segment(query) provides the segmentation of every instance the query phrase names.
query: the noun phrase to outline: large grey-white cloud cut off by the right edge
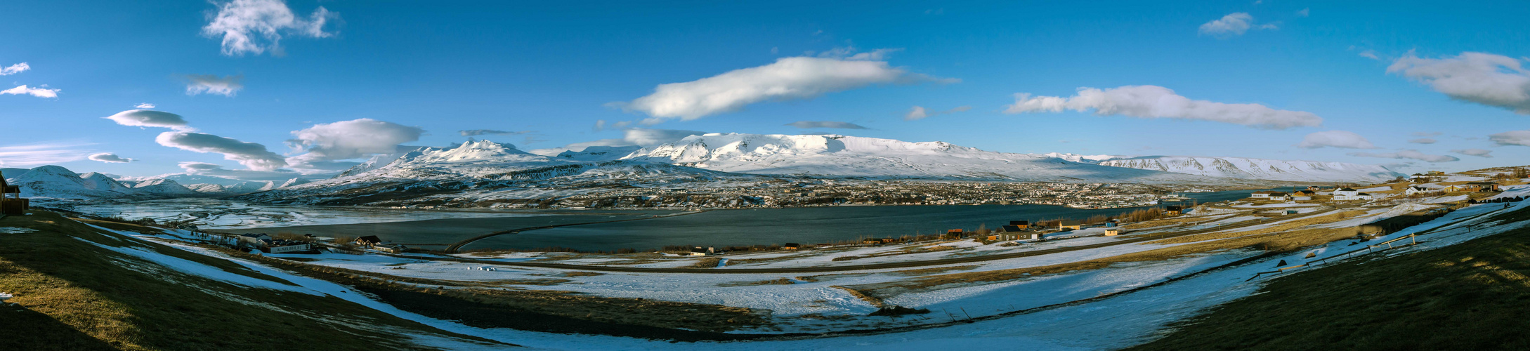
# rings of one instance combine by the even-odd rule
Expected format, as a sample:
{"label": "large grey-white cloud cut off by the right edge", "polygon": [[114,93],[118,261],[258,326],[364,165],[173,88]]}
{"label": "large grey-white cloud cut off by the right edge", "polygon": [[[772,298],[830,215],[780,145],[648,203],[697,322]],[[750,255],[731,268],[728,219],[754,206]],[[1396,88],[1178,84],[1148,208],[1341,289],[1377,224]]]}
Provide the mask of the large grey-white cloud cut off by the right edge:
{"label": "large grey-white cloud cut off by the right edge", "polygon": [[1519,61],[1481,52],[1463,52],[1454,58],[1418,58],[1409,52],[1386,72],[1427,84],[1452,99],[1530,114],[1530,70]]}

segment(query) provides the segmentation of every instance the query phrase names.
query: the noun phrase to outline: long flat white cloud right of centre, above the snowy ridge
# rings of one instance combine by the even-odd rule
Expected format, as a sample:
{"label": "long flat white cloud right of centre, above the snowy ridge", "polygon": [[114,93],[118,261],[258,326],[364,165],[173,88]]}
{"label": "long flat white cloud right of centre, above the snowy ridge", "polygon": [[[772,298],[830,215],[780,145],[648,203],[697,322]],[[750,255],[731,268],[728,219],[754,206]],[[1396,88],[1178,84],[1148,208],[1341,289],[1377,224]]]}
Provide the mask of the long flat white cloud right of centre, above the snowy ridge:
{"label": "long flat white cloud right of centre, above the snowy ridge", "polygon": [[1158,85],[1125,85],[1105,90],[1082,87],[1079,95],[1071,98],[1033,98],[1030,93],[1017,93],[1014,105],[1010,105],[1004,113],[1057,113],[1063,110],[1094,110],[1095,116],[1196,119],[1265,130],[1317,127],[1323,122],[1322,118],[1308,111],[1274,110],[1261,104],[1192,101]]}

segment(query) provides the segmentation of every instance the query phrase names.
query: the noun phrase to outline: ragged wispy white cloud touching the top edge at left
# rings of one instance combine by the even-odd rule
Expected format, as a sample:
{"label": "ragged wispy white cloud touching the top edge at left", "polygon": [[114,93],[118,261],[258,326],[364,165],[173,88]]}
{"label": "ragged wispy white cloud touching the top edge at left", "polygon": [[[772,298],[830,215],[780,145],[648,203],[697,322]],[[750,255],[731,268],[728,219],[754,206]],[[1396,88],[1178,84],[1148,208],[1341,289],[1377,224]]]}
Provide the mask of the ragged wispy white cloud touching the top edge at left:
{"label": "ragged wispy white cloud touching the top edge at left", "polygon": [[217,14],[208,17],[202,35],[222,35],[223,55],[230,56],[260,55],[266,50],[283,55],[283,34],[327,38],[334,34],[324,32],[324,23],[334,18],[340,18],[340,15],[323,6],[309,14],[308,18],[298,18],[282,0],[233,0],[217,3]]}

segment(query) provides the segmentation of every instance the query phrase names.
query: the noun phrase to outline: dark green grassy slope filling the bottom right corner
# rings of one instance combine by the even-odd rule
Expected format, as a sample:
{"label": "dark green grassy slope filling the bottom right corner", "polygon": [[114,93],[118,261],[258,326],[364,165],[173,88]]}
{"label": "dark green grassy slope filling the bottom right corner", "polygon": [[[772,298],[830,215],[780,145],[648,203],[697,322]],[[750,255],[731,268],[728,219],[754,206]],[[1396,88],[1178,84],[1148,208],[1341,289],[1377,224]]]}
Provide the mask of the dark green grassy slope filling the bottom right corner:
{"label": "dark green grassy slope filling the bottom right corner", "polygon": [[1530,349],[1530,229],[1279,278],[1134,349]]}

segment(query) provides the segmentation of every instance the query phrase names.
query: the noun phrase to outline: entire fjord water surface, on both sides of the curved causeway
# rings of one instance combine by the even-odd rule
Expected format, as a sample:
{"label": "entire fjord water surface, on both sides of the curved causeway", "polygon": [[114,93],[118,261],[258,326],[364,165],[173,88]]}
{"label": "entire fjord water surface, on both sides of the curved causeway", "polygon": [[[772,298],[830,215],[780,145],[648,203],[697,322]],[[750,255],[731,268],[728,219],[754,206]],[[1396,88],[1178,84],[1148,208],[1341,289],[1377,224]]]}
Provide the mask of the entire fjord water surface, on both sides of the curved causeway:
{"label": "entire fjord water surface, on both sides of the curved causeway", "polygon": [[[1291,188],[1281,188],[1290,191]],[[1190,192],[1201,203],[1247,197],[1250,191]],[[1189,204],[1189,203],[1186,203]],[[581,224],[506,233],[462,249],[578,250],[659,249],[662,246],[751,246],[831,243],[866,237],[936,233],[947,229],[998,229],[1011,220],[1082,220],[1141,208],[1073,209],[1048,204],[832,206],[786,209],[719,209],[636,221]],[[269,206],[222,200],[144,201],[87,206],[81,212],[202,218],[202,229],[220,232],[292,232],[320,237],[378,235],[422,249],[444,249],[483,233],[520,227],[644,218],[678,211],[409,211],[341,206]],[[297,226],[294,226],[297,224]]]}

